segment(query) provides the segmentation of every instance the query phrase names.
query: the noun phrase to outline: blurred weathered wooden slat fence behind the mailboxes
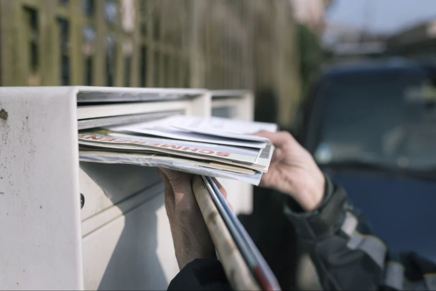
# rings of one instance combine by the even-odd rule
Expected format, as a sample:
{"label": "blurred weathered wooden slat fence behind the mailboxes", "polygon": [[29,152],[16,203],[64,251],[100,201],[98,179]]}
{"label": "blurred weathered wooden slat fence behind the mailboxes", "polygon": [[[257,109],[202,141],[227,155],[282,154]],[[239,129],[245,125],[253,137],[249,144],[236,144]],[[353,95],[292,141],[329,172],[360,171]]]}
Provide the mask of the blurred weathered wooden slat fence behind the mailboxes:
{"label": "blurred weathered wooden slat fence behind the mailboxes", "polygon": [[0,85],[300,92],[288,0],[0,0]]}

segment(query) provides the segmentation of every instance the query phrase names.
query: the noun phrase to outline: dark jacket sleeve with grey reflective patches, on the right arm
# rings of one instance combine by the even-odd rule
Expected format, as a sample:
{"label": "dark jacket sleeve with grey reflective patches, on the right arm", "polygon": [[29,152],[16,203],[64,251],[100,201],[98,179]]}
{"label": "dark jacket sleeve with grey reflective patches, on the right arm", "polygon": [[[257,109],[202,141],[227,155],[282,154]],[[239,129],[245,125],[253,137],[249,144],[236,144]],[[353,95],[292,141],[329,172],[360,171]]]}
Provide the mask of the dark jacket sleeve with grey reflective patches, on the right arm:
{"label": "dark jacket sleeve with grey reflective patches, on the right arm", "polygon": [[324,290],[436,290],[436,264],[415,253],[390,254],[347,194],[326,177],[318,209],[285,206]]}

